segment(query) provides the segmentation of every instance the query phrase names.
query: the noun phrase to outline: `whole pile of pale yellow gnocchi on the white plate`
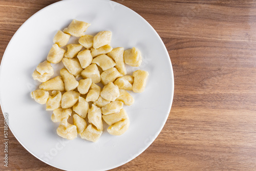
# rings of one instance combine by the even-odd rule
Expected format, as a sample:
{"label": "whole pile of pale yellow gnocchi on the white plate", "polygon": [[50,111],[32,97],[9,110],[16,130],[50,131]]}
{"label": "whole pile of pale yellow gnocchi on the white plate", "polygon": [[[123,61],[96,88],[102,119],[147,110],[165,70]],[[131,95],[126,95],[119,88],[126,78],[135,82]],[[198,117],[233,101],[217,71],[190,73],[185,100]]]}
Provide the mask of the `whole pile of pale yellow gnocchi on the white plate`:
{"label": "whole pile of pale yellow gnocchi on the white plate", "polygon": [[[72,140],[78,134],[82,139],[96,142],[103,131],[102,119],[110,125],[107,131],[111,135],[127,131],[130,120],[123,105],[134,103],[127,91],[143,92],[148,72],[137,70],[126,75],[125,63],[132,67],[141,65],[140,51],[113,49],[111,31],[85,35],[90,25],[74,19],[56,33],[47,60],[39,63],[32,74],[34,80],[42,83],[31,92],[31,97],[46,104],[46,111],[53,111],[51,119],[60,122],[57,128],[60,137]],[[80,37],[79,44],[67,45],[71,36]],[[50,79],[54,74],[51,63],[60,61],[65,68]],[[73,124],[68,122],[72,116]]]}

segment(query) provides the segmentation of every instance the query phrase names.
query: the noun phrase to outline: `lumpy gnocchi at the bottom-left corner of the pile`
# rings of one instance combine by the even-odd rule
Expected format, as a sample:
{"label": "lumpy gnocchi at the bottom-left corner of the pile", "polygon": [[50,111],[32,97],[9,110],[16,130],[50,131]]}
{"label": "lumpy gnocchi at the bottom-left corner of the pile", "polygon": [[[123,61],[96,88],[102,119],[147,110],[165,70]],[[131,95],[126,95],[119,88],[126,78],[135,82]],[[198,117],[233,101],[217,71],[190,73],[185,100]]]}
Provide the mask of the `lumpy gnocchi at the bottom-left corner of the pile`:
{"label": "lumpy gnocchi at the bottom-left corner of the pile", "polygon": [[73,140],[77,137],[76,125],[68,123],[67,119],[61,120],[57,128],[57,134],[68,140]]}

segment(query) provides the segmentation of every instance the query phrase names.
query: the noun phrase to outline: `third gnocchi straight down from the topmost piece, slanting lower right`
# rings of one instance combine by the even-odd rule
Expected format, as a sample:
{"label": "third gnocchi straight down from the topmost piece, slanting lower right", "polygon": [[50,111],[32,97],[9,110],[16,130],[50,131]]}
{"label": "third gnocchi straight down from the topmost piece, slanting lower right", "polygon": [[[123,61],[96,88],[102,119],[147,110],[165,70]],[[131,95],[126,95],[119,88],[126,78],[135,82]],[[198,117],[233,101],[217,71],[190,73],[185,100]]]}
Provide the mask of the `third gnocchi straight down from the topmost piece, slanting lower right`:
{"label": "third gnocchi straight down from the topmost piece, slanting lower right", "polygon": [[74,76],[81,74],[82,67],[77,58],[74,58],[74,59],[63,58],[62,62],[64,66],[67,68],[67,70]]}

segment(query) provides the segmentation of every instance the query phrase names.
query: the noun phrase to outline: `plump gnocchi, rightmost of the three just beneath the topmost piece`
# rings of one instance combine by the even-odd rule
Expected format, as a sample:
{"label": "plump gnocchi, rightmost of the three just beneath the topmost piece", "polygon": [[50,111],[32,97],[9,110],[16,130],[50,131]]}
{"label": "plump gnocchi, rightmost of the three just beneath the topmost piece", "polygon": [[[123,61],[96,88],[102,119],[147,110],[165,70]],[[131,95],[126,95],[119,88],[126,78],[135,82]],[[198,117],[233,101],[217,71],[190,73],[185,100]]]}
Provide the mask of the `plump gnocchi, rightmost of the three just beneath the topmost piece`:
{"label": "plump gnocchi, rightmost of the three just beneath the topmost piece", "polygon": [[104,45],[108,45],[111,42],[111,31],[100,31],[93,38],[93,48],[98,49]]}

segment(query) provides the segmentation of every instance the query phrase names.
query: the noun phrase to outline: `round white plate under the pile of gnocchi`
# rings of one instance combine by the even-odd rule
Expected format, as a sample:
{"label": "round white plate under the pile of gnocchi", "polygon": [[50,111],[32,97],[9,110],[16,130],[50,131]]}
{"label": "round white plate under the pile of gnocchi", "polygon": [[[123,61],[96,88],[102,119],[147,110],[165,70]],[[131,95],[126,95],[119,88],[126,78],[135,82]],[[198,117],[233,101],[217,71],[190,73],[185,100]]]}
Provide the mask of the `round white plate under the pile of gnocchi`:
{"label": "round white plate under the pile of gnocchi", "polygon": [[[69,141],[58,137],[52,112],[30,97],[38,83],[32,73],[46,56],[58,29],[72,19],[91,23],[86,34],[110,30],[112,47],[137,47],[143,55],[142,69],[150,76],[143,93],[132,93],[135,103],[127,107],[131,124],[121,136],[103,131],[99,141]],[[168,52],[156,31],[140,15],[118,3],[103,0],[60,1],[30,17],[12,37],[0,69],[3,113],[17,140],[35,157],[64,170],[107,170],[131,161],[158,136],[173,101],[174,77]]]}

